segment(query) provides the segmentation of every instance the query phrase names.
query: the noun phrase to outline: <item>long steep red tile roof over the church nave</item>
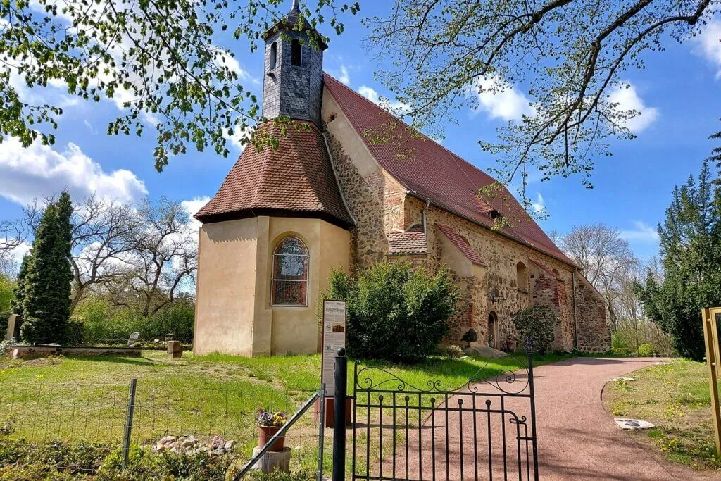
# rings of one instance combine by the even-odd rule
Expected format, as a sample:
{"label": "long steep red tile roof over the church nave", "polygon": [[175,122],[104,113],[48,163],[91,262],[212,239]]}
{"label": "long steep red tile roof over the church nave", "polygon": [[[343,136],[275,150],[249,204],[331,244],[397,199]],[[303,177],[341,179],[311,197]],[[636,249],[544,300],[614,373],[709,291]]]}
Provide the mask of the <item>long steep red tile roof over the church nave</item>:
{"label": "long steep red tile roof over the church nave", "polygon": [[487,201],[479,198],[481,187],[496,182],[490,175],[428,137],[411,137],[407,124],[402,122],[399,122],[395,133],[412,153],[409,159],[397,159],[395,141],[373,143],[363,135],[368,130],[372,131],[397,119],[332,76],[326,74],[324,81],[333,99],[363,138],[376,161],[409,190],[411,195],[430,200],[435,206],[489,229],[494,225],[491,213],[498,211],[513,224],[500,229],[500,234],[569,265],[575,265],[544,234],[505,187],[500,195],[494,195]]}

